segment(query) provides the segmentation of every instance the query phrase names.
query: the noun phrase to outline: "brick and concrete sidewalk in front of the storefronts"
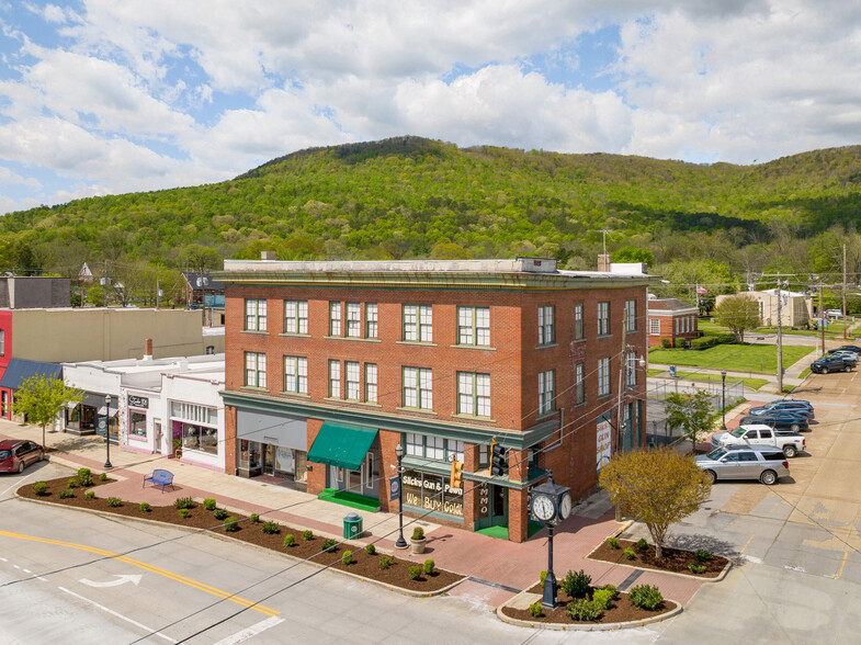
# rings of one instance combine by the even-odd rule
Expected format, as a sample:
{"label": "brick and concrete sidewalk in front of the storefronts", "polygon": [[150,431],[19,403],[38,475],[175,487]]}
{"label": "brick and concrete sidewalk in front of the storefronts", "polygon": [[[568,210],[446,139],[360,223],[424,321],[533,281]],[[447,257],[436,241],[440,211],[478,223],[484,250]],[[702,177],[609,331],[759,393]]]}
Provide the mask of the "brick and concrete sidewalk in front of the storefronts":
{"label": "brick and concrete sidewalk in front of the storefronts", "polygon": [[[0,420],[0,435],[42,441],[42,430],[33,426]],[[104,469],[105,445],[101,438],[72,437],[64,433],[46,434],[54,463],[72,468],[88,467],[94,473]],[[212,497],[220,507],[234,512],[256,512],[267,519],[310,529],[325,536],[341,539],[343,517],[350,512],[344,506],[317,499],[314,495],[281,486],[234,477],[224,473],[183,465],[160,455],[141,454],[111,446],[111,476],[117,482],[100,487],[100,496],[115,496],[133,503],[171,505],[178,497],[192,497],[196,501]],[[167,468],[174,474],[175,490],[141,488],[144,475],[155,468]],[[468,598],[496,607],[532,585],[541,570],[547,567],[547,532],[539,531],[528,542],[517,544],[505,540],[472,533],[426,520],[404,517],[407,538],[415,525],[424,528],[428,539],[426,555],[410,556],[408,551],[395,548],[397,514],[362,512],[364,538],[356,542],[375,542],[378,550],[399,557],[423,561],[433,558],[437,566],[472,576],[450,595]],[[622,585],[638,569],[587,561],[585,556],[610,534],[622,528],[615,522],[614,512],[602,494],[597,494],[578,505],[574,514],[554,532],[554,569],[557,577],[566,572],[585,569],[594,584]],[[661,592],[686,604],[702,582],[695,579],[644,572],[637,582],[658,585]]]}

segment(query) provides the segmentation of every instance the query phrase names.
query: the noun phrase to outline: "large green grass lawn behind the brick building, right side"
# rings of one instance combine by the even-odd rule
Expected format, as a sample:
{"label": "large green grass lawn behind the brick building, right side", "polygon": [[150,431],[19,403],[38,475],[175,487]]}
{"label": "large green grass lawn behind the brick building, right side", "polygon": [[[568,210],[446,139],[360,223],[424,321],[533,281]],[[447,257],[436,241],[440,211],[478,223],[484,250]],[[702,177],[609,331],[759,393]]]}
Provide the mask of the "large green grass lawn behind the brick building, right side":
{"label": "large green grass lawn behind the brick building, right side", "polygon": [[[783,346],[783,367],[786,369],[814,351],[812,347]],[[653,349],[649,363],[662,365],[693,365],[713,370],[762,372],[770,374],[778,369],[773,344],[717,344],[704,350]]]}

